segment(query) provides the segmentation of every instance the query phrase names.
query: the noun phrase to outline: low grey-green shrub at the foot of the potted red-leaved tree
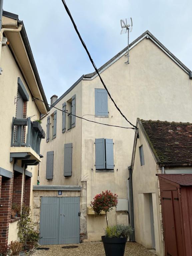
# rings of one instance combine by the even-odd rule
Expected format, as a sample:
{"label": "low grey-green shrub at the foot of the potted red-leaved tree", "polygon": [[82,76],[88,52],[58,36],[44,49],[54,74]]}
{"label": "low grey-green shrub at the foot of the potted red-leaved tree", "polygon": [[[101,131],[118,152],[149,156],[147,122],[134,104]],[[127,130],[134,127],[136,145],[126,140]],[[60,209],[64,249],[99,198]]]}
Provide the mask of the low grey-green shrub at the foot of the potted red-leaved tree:
{"label": "low grey-green shrub at the foot of the potted red-leaved tree", "polygon": [[117,224],[114,226],[108,226],[105,229],[106,237],[126,237],[128,238],[132,234],[132,228],[124,224]]}

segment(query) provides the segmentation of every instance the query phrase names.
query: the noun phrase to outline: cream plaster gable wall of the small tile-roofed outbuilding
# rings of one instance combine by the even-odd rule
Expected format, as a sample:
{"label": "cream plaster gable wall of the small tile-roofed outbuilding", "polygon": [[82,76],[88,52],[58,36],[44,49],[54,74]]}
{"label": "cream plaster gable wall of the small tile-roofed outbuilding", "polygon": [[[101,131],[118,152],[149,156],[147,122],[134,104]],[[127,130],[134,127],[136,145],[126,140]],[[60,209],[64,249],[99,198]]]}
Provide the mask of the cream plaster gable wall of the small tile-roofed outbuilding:
{"label": "cream plaster gable wall of the small tile-roofed outbuilding", "polygon": [[[143,145],[145,164],[141,166],[139,156],[139,146]],[[143,244],[146,248],[152,248],[151,218],[149,206],[149,193],[152,193],[153,217],[156,254],[163,256],[164,242],[161,230],[161,207],[159,201],[158,179],[156,173],[161,173],[158,169],[148,143],[139,128],[139,139],[135,150],[133,166],[133,205],[135,241]]]}

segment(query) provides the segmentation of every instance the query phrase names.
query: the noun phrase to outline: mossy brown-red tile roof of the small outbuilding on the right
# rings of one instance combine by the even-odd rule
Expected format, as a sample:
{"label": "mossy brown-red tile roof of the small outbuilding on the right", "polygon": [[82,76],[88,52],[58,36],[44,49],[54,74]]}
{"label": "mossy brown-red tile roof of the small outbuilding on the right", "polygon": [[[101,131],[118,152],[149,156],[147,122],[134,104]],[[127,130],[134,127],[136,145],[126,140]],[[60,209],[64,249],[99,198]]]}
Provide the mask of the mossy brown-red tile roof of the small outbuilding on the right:
{"label": "mossy brown-red tile roof of the small outbuilding on the right", "polygon": [[192,124],[140,120],[163,165],[192,165]]}

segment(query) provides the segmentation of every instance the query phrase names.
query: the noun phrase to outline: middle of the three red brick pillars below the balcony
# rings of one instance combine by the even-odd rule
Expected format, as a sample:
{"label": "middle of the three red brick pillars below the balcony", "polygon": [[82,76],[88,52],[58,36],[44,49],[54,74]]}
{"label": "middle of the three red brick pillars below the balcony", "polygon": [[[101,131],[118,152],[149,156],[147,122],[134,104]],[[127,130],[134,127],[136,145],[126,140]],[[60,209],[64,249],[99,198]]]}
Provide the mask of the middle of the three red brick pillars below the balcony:
{"label": "middle of the three red brick pillars below the balcony", "polygon": [[12,203],[21,205],[23,174],[14,171]]}

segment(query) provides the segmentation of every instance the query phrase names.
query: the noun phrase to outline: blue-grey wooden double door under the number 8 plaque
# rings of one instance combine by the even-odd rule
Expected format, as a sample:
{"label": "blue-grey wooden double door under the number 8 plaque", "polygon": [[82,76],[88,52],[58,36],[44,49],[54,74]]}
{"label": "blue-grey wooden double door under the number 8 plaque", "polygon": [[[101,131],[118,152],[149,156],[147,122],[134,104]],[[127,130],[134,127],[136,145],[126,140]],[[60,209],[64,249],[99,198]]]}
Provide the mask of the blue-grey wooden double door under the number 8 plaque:
{"label": "blue-grey wooden double door under the number 8 plaque", "polygon": [[79,201],[79,197],[41,197],[40,244],[79,243]]}

